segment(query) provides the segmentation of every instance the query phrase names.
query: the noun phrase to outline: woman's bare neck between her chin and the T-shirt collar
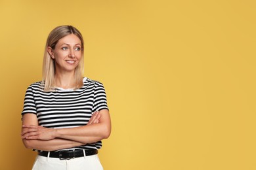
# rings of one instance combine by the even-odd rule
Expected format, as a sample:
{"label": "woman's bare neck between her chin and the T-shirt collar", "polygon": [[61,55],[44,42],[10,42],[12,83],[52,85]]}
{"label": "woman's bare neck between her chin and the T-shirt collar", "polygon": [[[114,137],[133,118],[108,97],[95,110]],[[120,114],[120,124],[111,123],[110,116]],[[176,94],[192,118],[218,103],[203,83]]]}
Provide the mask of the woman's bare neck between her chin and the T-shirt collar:
{"label": "woman's bare neck between her chin and the T-shirt collar", "polygon": [[55,75],[55,86],[59,88],[74,88],[75,76],[74,73],[65,73]]}

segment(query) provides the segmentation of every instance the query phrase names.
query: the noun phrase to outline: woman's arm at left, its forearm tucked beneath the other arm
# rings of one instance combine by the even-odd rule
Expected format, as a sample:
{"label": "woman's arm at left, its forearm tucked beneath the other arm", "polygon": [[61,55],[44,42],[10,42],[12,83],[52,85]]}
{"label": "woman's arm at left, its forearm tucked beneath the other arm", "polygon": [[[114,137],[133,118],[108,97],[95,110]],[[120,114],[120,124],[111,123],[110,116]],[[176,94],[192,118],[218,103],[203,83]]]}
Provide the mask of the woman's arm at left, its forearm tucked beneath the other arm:
{"label": "woman's arm at left, its forearm tucked beneath the other arm", "polygon": [[[22,125],[38,126],[36,115],[24,114],[22,116]],[[22,127],[22,134],[24,133],[24,130],[26,130],[26,128]],[[52,139],[45,141],[39,139],[29,140],[26,138],[22,138],[22,142],[24,143],[24,146],[26,146],[26,148],[45,151],[59,150],[62,148],[72,148],[84,144],[66,139]]]}

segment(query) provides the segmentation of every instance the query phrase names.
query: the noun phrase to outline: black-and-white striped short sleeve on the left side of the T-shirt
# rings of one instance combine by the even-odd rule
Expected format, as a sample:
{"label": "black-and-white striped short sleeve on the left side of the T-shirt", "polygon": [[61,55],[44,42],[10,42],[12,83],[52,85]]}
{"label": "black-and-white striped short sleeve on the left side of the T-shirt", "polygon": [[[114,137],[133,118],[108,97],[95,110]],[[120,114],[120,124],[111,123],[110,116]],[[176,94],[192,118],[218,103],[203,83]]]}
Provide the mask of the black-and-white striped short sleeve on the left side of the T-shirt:
{"label": "black-and-white striped short sleeve on the left side of the T-shirt", "polygon": [[35,99],[33,97],[33,90],[32,86],[29,86],[26,94],[25,94],[25,99],[24,99],[24,107],[22,110],[22,115],[26,113],[34,113],[36,114],[36,107],[35,107]]}

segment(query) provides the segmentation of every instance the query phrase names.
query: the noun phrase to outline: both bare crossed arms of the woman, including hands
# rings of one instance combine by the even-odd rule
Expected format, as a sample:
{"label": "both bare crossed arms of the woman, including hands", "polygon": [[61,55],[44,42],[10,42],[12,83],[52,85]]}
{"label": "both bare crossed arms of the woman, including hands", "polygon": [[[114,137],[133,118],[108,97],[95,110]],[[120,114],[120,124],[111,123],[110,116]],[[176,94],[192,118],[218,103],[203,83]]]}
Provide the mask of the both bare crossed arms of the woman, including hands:
{"label": "both bare crossed arms of the woman, including hands", "polygon": [[27,148],[37,150],[58,150],[95,143],[109,137],[111,132],[110,114],[102,109],[93,114],[87,126],[50,129],[38,126],[35,114],[24,114],[22,141]]}

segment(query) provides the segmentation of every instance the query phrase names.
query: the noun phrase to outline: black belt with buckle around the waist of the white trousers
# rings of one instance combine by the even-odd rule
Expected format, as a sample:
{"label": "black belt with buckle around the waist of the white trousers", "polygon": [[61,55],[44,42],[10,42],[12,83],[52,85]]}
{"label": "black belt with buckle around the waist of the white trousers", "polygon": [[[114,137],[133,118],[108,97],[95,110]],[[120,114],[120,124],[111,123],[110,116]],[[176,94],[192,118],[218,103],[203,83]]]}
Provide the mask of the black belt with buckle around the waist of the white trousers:
{"label": "black belt with buckle around the waist of the white trousers", "polygon": [[[95,155],[98,154],[98,150],[96,149],[90,149],[90,150],[85,150],[85,156],[90,156],[90,155]],[[41,151],[38,152],[38,155],[40,156],[48,156],[47,151]],[[79,158],[82,157],[83,155],[83,150],[81,149],[76,149],[76,150],[60,150],[57,152],[50,152],[50,158],[60,158],[60,160],[70,160],[71,158]]]}

